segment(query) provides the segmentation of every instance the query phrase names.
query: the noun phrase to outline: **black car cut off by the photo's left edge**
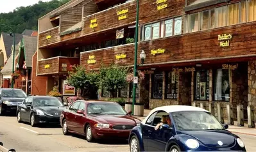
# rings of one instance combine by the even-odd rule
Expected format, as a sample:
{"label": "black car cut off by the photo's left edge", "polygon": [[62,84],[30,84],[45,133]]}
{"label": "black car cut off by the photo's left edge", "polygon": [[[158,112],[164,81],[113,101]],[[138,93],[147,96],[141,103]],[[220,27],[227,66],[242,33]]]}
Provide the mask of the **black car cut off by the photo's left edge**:
{"label": "black car cut off by the photo's left edge", "polygon": [[0,89],[0,115],[16,112],[17,105],[27,97],[22,89]]}

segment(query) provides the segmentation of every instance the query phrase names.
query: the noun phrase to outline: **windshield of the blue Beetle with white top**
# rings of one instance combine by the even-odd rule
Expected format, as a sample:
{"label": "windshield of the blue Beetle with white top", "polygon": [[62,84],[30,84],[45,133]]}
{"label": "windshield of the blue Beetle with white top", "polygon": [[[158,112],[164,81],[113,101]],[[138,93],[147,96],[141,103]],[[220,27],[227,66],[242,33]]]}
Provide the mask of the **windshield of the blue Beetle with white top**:
{"label": "windshield of the blue Beetle with white top", "polygon": [[180,111],[172,112],[176,130],[223,130],[224,127],[209,112]]}

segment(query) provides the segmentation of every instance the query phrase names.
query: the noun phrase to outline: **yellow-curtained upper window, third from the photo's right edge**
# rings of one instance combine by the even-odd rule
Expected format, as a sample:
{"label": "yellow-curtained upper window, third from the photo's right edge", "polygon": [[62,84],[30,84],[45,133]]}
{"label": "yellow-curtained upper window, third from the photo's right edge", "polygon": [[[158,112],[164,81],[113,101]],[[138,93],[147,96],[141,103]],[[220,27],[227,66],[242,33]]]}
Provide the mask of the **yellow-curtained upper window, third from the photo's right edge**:
{"label": "yellow-curtained upper window, third from the photo's right edge", "polygon": [[228,5],[228,26],[239,23],[239,3]]}

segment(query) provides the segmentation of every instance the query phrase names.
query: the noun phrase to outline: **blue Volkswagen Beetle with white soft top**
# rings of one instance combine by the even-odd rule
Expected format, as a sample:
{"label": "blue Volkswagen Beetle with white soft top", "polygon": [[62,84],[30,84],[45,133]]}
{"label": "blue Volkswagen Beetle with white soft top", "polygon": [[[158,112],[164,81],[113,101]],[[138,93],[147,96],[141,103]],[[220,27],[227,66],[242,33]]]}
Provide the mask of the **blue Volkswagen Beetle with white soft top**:
{"label": "blue Volkswagen Beetle with white soft top", "polygon": [[[161,123],[163,116],[169,117],[169,124]],[[130,151],[246,151],[244,142],[227,128],[199,107],[157,107],[130,132]]]}

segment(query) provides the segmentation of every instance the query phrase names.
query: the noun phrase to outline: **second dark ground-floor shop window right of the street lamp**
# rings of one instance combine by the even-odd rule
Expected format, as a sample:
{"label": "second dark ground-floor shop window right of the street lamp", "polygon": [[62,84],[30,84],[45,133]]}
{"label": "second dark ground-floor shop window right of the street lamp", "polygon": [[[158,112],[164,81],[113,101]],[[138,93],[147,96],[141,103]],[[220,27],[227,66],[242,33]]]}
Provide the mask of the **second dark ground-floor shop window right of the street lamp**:
{"label": "second dark ground-floor shop window right of the street lamp", "polygon": [[167,99],[178,98],[178,74],[175,72],[166,73],[166,96]]}

